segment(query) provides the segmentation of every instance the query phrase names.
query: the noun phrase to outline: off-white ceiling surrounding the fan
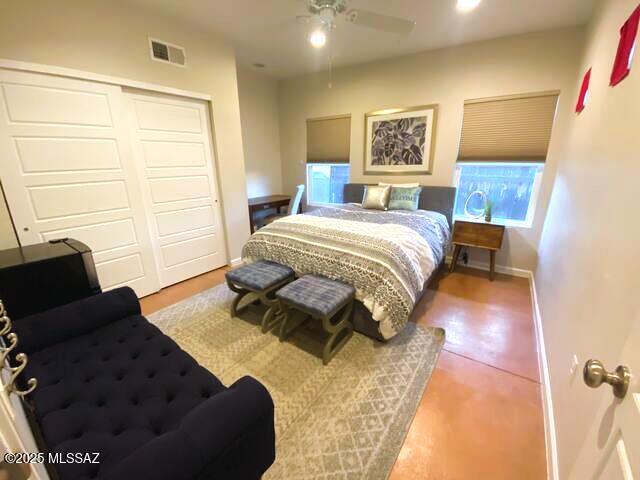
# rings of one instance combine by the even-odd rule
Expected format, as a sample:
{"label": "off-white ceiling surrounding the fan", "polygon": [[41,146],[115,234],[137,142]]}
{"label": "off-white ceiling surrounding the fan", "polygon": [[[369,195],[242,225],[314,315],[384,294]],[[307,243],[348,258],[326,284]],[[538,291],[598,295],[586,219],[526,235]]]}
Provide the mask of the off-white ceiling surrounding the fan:
{"label": "off-white ceiling surrounding the fan", "polygon": [[[328,67],[327,48],[314,49],[307,41],[313,25],[295,19],[296,15],[306,13],[305,0],[129,1],[222,35],[235,45],[240,64],[264,63],[265,73],[274,77]],[[334,65],[583,25],[596,1],[482,0],[475,10],[462,14],[456,10],[456,0],[349,0],[349,8],[412,19],[416,28],[409,36],[399,37],[339,18],[333,39]]]}

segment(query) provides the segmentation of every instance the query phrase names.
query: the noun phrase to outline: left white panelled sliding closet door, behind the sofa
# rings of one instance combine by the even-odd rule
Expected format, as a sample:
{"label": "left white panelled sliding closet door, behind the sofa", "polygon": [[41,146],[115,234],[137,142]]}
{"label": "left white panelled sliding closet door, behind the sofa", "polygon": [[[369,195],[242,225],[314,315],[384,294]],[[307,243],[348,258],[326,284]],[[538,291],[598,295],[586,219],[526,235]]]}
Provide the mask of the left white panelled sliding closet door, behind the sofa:
{"label": "left white panelled sliding closet door, behind the sofa", "polygon": [[23,245],[73,237],[103,289],[159,290],[120,87],[0,70],[0,176]]}

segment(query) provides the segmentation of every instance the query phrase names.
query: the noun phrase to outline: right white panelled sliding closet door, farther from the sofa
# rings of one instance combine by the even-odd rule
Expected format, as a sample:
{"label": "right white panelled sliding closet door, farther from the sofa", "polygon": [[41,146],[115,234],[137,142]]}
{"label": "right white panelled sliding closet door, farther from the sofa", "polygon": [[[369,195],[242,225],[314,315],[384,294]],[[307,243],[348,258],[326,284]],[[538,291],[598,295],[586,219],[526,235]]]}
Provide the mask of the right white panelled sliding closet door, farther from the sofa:
{"label": "right white panelled sliding closet door, farther from the sofa", "polygon": [[161,285],[225,265],[207,104],[126,96]]}

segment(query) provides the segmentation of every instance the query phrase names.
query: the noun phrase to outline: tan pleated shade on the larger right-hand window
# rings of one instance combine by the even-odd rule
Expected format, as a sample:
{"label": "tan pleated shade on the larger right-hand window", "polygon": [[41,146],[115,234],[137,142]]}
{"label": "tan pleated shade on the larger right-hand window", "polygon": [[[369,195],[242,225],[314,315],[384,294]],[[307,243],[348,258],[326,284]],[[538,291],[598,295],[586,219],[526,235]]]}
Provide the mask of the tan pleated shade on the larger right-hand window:
{"label": "tan pleated shade on the larger right-hand window", "polygon": [[458,160],[545,161],[557,102],[557,92],[466,102]]}

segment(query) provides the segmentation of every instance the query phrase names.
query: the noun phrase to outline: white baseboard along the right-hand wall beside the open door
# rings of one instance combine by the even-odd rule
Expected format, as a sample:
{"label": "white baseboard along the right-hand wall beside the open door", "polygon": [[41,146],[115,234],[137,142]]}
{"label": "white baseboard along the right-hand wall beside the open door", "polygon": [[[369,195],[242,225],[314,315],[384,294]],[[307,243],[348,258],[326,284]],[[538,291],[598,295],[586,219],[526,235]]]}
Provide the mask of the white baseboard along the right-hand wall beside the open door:
{"label": "white baseboard along the right-hand wall beside the open door", "polygon": [[549,377],[549,364],[547,362],[547,350],[544,346],[544,334],[542,330],[542,316],[538,305],[538,292],[536,279],[533,272],[529,272],[529,286],[531,288],[531,303],[533,304],[533,323],[536,329],[538,344],[538,369],[540,370],[540,394],[542,396],[542,409],[544,414],[544,435],[547,445],[547,478],[560,480],[558,470],[558,443],[556,438],[556,422],[553,416],[553,398],[551,396],[551,379]]}

